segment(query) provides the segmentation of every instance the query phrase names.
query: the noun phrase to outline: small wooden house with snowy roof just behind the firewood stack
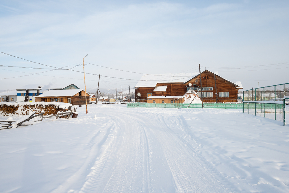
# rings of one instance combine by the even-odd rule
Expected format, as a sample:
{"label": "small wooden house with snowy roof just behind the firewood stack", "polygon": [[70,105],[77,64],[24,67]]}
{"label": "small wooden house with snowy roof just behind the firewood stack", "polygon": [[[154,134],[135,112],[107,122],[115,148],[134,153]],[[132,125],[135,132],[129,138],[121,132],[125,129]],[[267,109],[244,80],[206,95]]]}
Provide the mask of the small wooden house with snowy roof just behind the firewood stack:
{"label": "small wooden house with snowy roof just behind the firewood stack", "polygon": [[36,96],[36,102],[64,102],[72,105],[85,104],[85,98],[89,104],[88,93],[83,89],[67,89],[67,90],[49,90],[39,96]]}

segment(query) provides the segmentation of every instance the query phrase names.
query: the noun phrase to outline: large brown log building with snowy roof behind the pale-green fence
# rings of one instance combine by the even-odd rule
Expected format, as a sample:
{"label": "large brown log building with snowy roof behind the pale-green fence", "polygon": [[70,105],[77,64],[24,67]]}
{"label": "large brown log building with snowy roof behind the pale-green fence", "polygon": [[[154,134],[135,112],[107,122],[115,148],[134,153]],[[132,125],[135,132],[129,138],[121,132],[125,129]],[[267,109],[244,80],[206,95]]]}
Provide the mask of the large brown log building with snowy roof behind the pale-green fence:
{"label": "large brown log building with snowy roof behind the pale-green fence", "polygon": [[[242,89],[241,82],[230,82],[218,76],[217,72],[208,70],[201,73],[201,78],[203,102],[216,102],[216,93],[218,102],[238,102],[238,91]],[[136,101],[147,102],[147,97],[149,96],[185,95],[190,88],[189,83],[192,84],[191,88],[197,92],[201,88],[200,74],[144,74],[134,87],[136,90]],[[138,93],[140,93],[140,96],[138,96]],[[201,97],[200,93],[198,93],[198,96]]]}

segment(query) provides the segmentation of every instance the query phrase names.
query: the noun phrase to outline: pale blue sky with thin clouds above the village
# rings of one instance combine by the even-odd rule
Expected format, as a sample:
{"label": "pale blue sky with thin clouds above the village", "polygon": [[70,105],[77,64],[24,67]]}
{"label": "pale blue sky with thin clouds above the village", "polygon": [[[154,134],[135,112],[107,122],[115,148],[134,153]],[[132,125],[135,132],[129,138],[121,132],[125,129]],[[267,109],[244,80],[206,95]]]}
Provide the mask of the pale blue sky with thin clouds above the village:
{"label": "pale blue sky with thin clouds above the village", "polygon": [[0,26],[0,91],[84,89],[86,54],[89,92],[99,74],[101,91],[125,91],[142,74],[198,72],[199,63],[244,90],[289,82],[289,1],[2,0]]}

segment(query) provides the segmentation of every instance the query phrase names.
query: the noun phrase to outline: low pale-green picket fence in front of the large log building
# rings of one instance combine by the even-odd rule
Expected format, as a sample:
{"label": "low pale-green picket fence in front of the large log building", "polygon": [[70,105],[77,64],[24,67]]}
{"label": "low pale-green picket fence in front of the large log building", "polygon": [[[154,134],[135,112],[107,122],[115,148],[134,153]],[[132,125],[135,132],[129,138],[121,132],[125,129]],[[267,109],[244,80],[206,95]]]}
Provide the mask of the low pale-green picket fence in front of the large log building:
{"label": "low pale-green picket fence in front of the large log building", "polygon": [[[189,103],[127,103],[127,107],[159,107],[159,108],[187,108]],[[202,108],[201,103],[191,104],[189,108]],[[242,109],[242,104],[238,103],[204,103],[204,108],[213,109]]]}

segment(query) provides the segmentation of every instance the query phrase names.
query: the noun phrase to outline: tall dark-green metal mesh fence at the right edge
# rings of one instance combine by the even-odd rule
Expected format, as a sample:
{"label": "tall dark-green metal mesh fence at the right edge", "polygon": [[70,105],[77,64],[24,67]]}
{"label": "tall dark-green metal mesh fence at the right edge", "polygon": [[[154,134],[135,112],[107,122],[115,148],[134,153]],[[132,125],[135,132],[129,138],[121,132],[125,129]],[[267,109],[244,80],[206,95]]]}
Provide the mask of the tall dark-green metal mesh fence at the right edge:
{"label": "tall dark-green metal mesh fence at the right edge", "polygon": [[[286,124],[289,115],[289,83],[243,91],[243,113],[258,115]],[[287,118],[289,121],[289,116]]]}

